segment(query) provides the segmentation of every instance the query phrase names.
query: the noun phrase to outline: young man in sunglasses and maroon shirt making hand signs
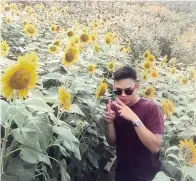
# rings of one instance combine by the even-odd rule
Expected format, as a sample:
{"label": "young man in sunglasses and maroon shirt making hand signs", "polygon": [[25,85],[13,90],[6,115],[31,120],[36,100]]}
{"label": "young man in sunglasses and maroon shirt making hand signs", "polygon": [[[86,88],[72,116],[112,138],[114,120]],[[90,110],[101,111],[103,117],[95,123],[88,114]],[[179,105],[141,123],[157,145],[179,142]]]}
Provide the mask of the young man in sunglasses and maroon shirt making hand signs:
{"label": "young man in sunglasses and maroon shirt making hand signs", "polygon": [[115,181],[151,181],[159,170],[163,115],[153,101],[137,96],[136,71],[129,66],[114,73],[116,100],[108,101],[106,137],[117,147]]}

